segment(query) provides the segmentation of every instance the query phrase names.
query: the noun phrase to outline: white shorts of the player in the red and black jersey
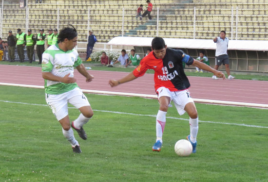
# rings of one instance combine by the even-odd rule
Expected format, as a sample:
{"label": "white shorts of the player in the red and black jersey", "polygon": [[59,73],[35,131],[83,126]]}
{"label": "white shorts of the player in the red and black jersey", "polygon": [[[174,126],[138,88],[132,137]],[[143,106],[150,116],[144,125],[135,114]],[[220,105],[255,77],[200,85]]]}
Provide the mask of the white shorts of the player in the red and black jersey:
{"label": "white shorts of the player in the red and black jersey", "polygon": [[163,96],[169,97],[170,101],[173,100],[179,115],[183,115],[185,113],[184,107],[186,104],[193,102],[189,90],[172,92],[166,87],[160,87],[156,90],[156,93],[158,95],[158,100]]}

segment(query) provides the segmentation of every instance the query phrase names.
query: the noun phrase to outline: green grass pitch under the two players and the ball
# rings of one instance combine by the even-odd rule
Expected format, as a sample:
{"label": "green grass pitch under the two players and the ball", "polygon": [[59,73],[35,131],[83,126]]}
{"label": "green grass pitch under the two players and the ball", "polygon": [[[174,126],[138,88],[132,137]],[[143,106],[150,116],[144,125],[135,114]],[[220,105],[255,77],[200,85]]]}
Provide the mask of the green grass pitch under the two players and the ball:
{"label": "green grass pitch under the two players and the ball", "polygon": [[[150,115],[157,114],[156,99],[85,94],[95,114],[84,126],[88,140],[82,140],[75,132],[82,153],[74,154],[60,124],[46,106],[43,89],[1,86],[0,92],[0,182],[268,179],[268,128],[231,125],[268,127],[268,112],[264,109],[197,103],[197,153],[179,157],[174,144],[189,134],[187,120],[167,118],[163,148],[159,153],[152,151],[155,117]],[[77,109],[69,109],[71,120],[78,115]],[[167,116],[189,118],[186,114],[179,116],[175,108],[170,108]]]}

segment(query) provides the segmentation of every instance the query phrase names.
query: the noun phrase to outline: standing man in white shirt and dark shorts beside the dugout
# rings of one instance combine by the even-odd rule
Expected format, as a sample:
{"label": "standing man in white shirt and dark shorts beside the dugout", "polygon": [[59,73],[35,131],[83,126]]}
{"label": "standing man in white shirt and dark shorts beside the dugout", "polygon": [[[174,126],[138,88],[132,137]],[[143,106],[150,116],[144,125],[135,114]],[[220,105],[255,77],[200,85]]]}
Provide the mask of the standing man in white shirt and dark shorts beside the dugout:
{"label": "standing man in white shirt and dark shorts beside the dugout", "polygon": [[[225,66],[228,79],[229,80],[234,79],[235,77],[230,75],[229,56],[227,54],[229,39],[226,37],[226,32],[221,31],[220,36],[215,37],[213,41],[216,43],[216,52],[215,52],[216,63],[215,63],[214,69],[218,70],[219,66],[223,64]],[[218,78],[215,75],[212,76],[212,79],[218,80]]]}

